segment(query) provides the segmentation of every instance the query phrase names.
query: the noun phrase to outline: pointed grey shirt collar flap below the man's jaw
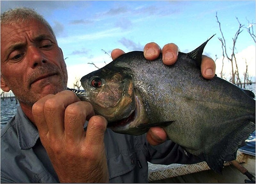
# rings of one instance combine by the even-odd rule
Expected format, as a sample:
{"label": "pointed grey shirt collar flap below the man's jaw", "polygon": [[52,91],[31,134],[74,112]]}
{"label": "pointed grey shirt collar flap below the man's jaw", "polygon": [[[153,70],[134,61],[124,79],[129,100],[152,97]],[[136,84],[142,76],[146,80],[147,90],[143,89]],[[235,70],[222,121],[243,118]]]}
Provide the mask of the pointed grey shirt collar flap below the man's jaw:
{"label": "pointed grey shirt collar flap below the man's jaw", "polygon": [[15,119],[20,149],[27,150],[32,148],[39,137],[38,130],[24,114],[20,106],[17,109]]}

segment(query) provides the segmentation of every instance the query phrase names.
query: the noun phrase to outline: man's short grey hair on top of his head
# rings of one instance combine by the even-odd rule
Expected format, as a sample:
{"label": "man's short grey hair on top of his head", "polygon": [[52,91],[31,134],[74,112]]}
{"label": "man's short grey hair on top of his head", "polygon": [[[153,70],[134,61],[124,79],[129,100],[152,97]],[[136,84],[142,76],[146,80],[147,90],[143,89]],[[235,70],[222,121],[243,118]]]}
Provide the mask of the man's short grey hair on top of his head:
{"label": "man's short grey hair on top of his head", "polygon": [[50,24],[44,19],[42,15],[40,15],[39,13],[37,13],[35,10],[31,8],[19,7],[19,8],[10,9],[8,11],[5,11],[4,13],[1,13],[1,26],[4,24],[11,25],[11,24],[23,23],[32,19],[38,20],[42,24],[44,24],[46,27],[48,27],[50,32],[53,34],[54,38],[56,39],[56,36]]}

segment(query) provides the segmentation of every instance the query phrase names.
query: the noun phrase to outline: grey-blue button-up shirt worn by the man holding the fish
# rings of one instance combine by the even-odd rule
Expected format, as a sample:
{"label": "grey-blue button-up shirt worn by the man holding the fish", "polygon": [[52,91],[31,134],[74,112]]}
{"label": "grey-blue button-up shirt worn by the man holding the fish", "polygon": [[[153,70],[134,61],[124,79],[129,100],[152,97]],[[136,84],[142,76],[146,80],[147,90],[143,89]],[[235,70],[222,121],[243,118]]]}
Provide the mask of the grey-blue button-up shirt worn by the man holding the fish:
{"label": "grey-blue button-up shirt worn by the man holding the fish", "polygon": [[[192,164],[202,161],[185,154],[172,141],[151,146],[145,134],[124,135],[107,129],[104,141],[109,182],[112,183],[148,182],[148,162]],[[59,182],[36,127],[20,106],[16,115],[1,130],[1,182]]]}

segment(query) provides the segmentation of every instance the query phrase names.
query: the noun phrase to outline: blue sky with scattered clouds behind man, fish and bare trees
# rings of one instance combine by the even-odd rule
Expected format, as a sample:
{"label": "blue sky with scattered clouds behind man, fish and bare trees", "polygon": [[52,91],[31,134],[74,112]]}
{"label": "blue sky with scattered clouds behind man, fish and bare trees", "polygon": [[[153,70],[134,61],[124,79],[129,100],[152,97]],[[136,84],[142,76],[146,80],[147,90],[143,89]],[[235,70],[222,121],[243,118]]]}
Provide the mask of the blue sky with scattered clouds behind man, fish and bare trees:
{"label": "blue sky with scattered clouds behind man, fish and bare trees", "polygon": [[[255,1],[2,1],[1,13],[15,7],[35,9],[52,26],[63,51],[68,70],[68,87],[84,75],[112,61],[115,48],[125,52],[143,50],[146,43],[161,48],[175,43],[181,52],[190,52],[216,34],[204,54],[216,59],[216,74],[222,66],[221,37],[216,12],[226,40],[228,54],[239,22],[244,30],[238,35],[236,56],[239,73],[245,70],[255,81],[255,42],[247,32],[253,23]],[[248,23],[249,20],[249,23]],[[251,25],[251,26],[252,26]],[[105,51],[108,53],[106,54]],[[224,60],[227,78],[231,64]]]}

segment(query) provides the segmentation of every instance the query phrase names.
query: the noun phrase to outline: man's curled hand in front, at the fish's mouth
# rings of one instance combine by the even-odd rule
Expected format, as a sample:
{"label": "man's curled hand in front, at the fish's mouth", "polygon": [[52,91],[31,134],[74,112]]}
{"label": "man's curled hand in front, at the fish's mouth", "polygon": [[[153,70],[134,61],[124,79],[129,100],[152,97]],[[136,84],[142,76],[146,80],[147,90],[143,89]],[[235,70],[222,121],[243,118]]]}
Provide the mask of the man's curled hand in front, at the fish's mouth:
{"label": "man's curled hand in front, at the fish's mouth", "polygon": [[[47,95],[32,108],[40,140],[60,182],[105,183],[108,167],[104,133],[107,120],[71,91]],[[85,119],[89,120],[84,131]]]}

